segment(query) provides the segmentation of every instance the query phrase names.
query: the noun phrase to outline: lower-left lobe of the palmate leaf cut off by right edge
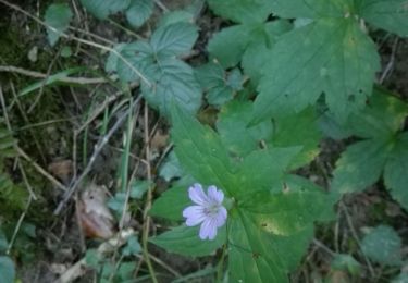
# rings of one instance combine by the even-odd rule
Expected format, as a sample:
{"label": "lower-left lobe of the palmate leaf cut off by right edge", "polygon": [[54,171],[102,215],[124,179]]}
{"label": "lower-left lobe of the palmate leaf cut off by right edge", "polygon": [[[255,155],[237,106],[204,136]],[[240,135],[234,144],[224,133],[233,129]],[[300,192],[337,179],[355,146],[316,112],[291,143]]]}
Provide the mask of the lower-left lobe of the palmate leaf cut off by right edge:
{"label": "lower-left lobe of the palmate leaf cut off by right edge", "polygon": [[332,187],[336,192],[359,192],[374,184],[386,162],[390,144],[384,140],[363,140],[347,147],[336,162]]}

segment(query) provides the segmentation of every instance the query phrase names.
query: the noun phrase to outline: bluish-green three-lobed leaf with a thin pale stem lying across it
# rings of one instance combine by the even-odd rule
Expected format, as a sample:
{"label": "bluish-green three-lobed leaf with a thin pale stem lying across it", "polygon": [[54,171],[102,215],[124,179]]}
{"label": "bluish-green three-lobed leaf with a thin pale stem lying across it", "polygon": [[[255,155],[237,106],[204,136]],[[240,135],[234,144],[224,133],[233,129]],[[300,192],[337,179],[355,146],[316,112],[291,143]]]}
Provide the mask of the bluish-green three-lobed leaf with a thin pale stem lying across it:
{"label": "bluish-green three-lobed leaf with a thin pale stem lying across it", "polygon": [[118,45],[122,58],[111,52],[106,70],[115,71],[124,82],[140,81],[141,94],[162,115],[170,116],[173,100],[195,113],[201,104],[200,85],[193,69],[177,57],[189,52],[197,36],[197,27],[188,23],[162,26],[150,41]]}

